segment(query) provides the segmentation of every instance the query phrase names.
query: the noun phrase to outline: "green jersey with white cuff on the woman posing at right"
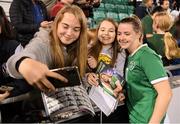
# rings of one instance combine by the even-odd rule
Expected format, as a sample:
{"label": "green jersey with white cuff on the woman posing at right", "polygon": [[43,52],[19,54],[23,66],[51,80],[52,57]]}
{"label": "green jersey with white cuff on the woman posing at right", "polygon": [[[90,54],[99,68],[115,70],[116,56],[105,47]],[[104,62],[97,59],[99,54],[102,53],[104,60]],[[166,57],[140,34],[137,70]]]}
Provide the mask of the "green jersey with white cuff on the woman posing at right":
{"label": "green jersey with white cuff on the woman posing at right", "polygon": [[168,77],[160,57],[146,44],[128,57],[126,68],[127,107],[131,123],[148,123],[157,92],[153,84]]}

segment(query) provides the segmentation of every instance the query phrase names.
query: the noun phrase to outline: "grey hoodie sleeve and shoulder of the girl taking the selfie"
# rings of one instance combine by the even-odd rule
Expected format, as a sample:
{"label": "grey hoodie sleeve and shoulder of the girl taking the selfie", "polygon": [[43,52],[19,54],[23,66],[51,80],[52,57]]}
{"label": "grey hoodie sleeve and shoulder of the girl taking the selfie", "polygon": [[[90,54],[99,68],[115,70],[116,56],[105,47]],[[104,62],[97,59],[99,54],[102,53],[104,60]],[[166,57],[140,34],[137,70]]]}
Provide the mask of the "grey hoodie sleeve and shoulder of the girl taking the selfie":
{"label": "grey hoodie sleeve and shoulder of the girl taking the selfie", "polygon": [[22,57],[29,57],[46,64],[52,68],[52,58],[50,51],[49,29],[40,28],[40,31],[34,35],[30,43],[25,49],[11,56],[7,61],[7,70],[14,78],[22,78],[21,74],[16,70],[15,65]]}

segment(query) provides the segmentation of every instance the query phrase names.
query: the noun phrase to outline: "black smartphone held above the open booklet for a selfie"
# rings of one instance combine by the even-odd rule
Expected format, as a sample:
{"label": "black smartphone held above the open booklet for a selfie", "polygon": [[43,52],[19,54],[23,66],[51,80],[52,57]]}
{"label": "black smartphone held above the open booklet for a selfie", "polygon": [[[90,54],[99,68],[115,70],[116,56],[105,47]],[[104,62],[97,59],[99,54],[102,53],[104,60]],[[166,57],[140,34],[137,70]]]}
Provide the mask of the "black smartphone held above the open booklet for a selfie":
{"label": "black smartphone held above the open booklet for a selfie", "polygon": [[58,79],[48,77],[48,80],[54,85],[55,88],[61,88],[61,87],[72,87],[77,86],[81,84],[81,77],[79,74],[79,70],[77,66],[68,66],[63,68],[57,68],[51,70],[53,72],[56,72],[62,76],[64,76],[68,82],[62,82]]}

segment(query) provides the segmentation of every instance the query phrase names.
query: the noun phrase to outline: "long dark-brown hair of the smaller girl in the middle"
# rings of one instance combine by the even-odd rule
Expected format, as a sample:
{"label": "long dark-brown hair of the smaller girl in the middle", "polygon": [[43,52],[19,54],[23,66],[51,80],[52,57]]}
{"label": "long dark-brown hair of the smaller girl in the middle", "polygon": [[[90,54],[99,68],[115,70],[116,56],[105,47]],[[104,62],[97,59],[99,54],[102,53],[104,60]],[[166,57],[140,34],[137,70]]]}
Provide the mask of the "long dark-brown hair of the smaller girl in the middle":
{"label": "long dark-brown hair of the smaller girl in the middle", "polygon": [[[98,30],[101,26],[101,23],[104,22],[104,21],[108,21],[110,23],[112,23],[115,27],[115,32],[117,32],[117,23],[111,19],[111,18],[107,18],[107,19],[104,19],[102,20],[97,29],[96,29],[96,44],[89,50],[89,54],[92,55],[96,60],[98,60],[98,57],[99,57],[99,54],[102,50],[102,46],[103,44],[99,41],[98,39]],[[117,38],[115,37],[114,39],[114,42],[112,43],[112,47],[111,49],[113,50],[113,56],[112,56],[112,61],[111,61],[111,66],[114,66],[115,62],[116,62],[116,59],[117,59],[117,55],[118,55],[118,42],[117,42]]]}

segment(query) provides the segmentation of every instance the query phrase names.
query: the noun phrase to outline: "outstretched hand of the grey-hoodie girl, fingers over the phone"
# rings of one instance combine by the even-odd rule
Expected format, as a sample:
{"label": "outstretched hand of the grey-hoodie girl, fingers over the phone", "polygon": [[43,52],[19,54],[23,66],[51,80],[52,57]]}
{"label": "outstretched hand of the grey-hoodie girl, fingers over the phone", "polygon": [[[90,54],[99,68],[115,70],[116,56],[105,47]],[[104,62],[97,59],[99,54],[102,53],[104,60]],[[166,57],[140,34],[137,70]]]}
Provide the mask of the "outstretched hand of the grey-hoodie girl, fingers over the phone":
{"label": "outstretched hand of the grey-hoodie girl, fingers over the phone", "polygon": [[63,76],[50,71],[47,65],[30,58],[22,60],[18,70],[30,85],[42,91],[55,90],[55,87],[49,82],[47,77],[67,82],[67,79]]}

